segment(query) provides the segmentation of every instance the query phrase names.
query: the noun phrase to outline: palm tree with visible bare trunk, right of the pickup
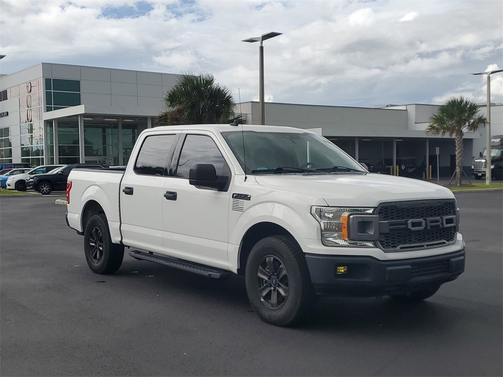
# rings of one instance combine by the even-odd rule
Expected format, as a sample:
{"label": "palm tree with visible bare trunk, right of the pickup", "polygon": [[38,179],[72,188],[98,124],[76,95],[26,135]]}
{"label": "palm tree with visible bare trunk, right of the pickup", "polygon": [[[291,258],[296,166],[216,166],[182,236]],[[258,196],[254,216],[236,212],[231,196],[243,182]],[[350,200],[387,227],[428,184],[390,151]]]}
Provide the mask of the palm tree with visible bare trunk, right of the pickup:
{"label": "palm tree with visible bare trunk, right of the pickup", "polygon": [[487,120],[478,114],[475,103],[463,97],[451,98],[439,107],[437,114],[430,119],[426,133],[442,135],[446,133],[456,141],[456,185],[461,185],[461,168],[463,163],[463,135],[465,132],[475,132],[480,126],[485,126]]}

